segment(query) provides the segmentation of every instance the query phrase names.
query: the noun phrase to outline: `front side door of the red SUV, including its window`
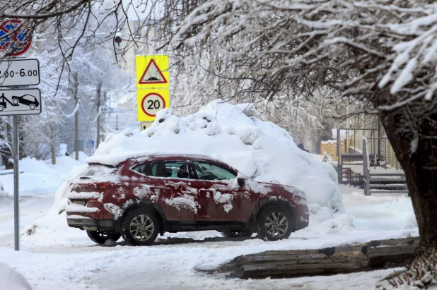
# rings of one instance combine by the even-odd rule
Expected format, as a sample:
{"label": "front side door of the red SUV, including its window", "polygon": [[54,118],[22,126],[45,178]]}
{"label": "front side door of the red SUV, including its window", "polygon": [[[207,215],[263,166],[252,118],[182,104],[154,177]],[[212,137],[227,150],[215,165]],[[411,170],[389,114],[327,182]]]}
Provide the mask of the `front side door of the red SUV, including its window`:
{"label": "front side door of the red SUV, including its window", "polygon": [[199,222],[248,222],[252,213],[250,192],[238,186],[237,172],[222,164],[192,160],[192,188],[198,191]]}

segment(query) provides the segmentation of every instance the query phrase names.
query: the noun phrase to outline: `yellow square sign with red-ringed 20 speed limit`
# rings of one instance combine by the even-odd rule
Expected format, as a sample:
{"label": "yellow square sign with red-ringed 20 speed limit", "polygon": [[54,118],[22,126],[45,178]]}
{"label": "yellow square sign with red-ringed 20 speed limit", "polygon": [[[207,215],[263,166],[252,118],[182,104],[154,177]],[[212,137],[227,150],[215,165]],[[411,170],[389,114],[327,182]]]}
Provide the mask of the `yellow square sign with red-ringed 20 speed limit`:
{"label": "yellow square sign with red-ringed 20 speed limit", "polygon": [[156,113],[168,107],[170,107],[168,89],[136,90],[138,121],[155,121]]}

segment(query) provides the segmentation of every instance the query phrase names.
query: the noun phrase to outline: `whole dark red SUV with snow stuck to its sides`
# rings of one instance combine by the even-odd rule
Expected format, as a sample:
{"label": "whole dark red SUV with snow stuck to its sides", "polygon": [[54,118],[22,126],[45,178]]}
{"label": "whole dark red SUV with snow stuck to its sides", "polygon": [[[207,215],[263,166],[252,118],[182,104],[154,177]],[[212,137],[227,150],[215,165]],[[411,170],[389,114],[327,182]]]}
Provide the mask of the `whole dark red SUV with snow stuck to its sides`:
{"label": "whole dark red SUV with snow stuck to its sides", "polygon": [[71,183],[69,226],[91,240],[150,245],[165,231],[220,231],[264,241],[308,226],[305,194],[291,186],[253,181],[203,155],[149,155],[117,166],[89,164]]}

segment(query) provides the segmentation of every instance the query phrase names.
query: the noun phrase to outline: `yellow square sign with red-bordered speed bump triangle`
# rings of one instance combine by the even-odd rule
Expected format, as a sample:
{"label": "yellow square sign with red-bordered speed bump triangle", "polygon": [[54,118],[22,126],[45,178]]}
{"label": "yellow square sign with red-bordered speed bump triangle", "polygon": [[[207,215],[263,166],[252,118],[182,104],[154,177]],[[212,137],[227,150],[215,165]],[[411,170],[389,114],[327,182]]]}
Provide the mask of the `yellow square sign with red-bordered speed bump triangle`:
{"label": "yellow square sign with red-bordered speed bump triangle", "polygon": [[137,88],[157,88],[170,86],[168,56],[140,55],[136,56],[135,63]]}

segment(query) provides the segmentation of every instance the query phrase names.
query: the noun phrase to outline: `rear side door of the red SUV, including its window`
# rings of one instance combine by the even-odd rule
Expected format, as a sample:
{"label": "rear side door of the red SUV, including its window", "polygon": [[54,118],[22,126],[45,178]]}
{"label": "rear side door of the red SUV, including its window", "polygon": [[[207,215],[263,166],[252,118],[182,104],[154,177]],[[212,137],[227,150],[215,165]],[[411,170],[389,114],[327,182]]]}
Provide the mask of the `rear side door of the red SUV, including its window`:
{"label": "rear side door of the red SUV, including its window", "polygon": [[197,194],[190,187],[190,175],[185,160],[159,160],[142,163],[139,187],[134,194],[157,203],[166,219],[176,222],[197,222]]}

